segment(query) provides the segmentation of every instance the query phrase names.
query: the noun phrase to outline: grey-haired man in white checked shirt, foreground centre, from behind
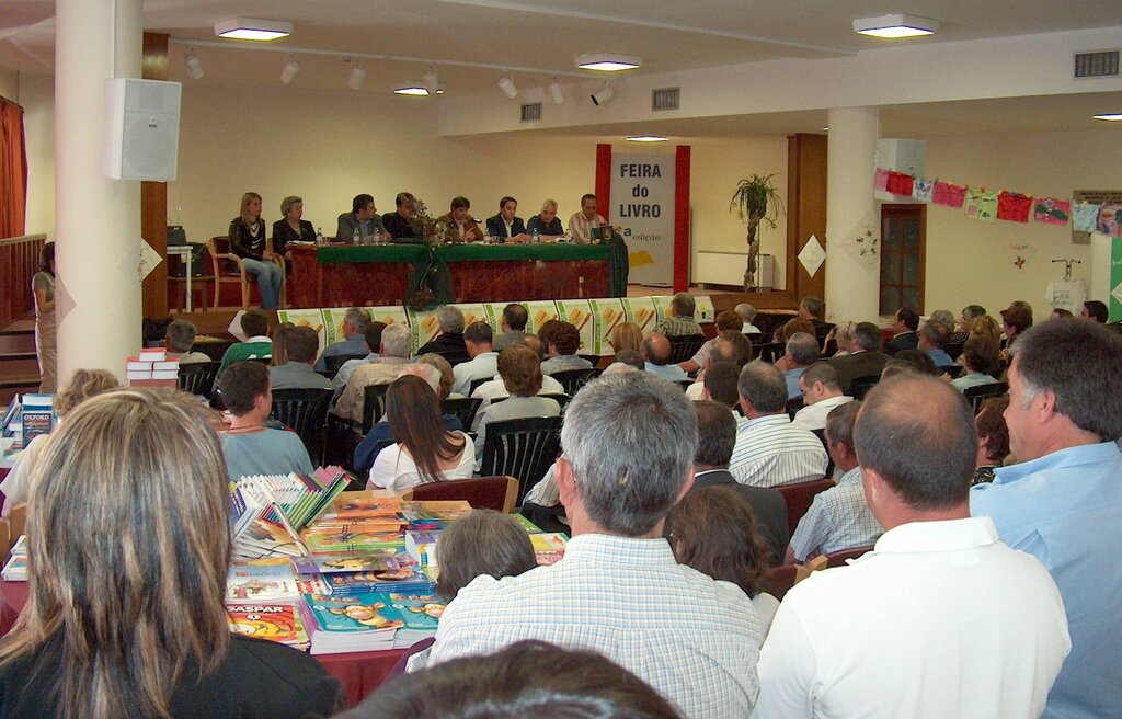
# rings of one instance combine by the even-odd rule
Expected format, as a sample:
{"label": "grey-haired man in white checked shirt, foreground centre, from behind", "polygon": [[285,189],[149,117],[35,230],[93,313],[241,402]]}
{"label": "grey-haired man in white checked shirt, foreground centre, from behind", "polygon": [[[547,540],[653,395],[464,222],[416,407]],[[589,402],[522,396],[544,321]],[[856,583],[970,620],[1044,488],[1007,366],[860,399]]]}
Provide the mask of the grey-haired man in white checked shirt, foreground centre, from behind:
{"label": "grey-haired man in white checked shirt, foreground centre, from behind", "polygon": [[689,400],[647,372],[603,377],[570,403],[561,442],[564,559],[461,589],[430,664],[540,639],[605,654],[684,717],[747,717],[758,693],[755,609],[738,587],[678,564],[662,538],[693,483]]}

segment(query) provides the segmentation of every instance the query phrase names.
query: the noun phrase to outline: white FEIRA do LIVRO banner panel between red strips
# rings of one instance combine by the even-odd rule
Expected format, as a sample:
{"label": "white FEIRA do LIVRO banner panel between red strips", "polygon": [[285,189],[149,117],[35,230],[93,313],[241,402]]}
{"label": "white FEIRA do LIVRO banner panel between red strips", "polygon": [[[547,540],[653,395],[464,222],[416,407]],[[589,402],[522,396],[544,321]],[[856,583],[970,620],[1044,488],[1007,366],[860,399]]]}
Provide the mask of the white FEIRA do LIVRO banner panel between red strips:
{"label": "white FEIRA do LIVRO banner panel between red strips", "polygon": [[670,287],[674,277],[674,156],[611,155],[611,223],[623,228],[627,280]]}

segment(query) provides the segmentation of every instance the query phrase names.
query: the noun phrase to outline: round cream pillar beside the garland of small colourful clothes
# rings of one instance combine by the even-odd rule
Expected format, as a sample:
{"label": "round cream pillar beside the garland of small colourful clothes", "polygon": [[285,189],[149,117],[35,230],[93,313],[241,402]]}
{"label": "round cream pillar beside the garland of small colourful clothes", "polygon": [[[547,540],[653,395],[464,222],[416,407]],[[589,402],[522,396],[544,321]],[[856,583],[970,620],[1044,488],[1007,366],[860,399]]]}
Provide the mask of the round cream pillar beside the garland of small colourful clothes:
{"label": "round cream pillar beside the garland of small colourful clothes", "polygon": [[875,322],[879,315],[880,261],[862,261],[845,245],[870,220],[880,237],[880,209],[873,200],[879,122],[877,108],[829,111],[825,299],[833,322]]}

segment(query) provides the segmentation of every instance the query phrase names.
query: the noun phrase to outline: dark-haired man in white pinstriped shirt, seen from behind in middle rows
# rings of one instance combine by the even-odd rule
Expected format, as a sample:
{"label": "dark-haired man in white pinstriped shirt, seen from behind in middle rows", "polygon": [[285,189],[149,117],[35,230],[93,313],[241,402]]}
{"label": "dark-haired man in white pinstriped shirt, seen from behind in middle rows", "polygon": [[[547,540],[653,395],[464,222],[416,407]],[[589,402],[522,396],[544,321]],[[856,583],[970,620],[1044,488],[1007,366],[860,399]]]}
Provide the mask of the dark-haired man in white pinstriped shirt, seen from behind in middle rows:
{"label": "dark-haired man in white pinstriped shirt, seen from behind in middle rows", "polygon": [[748,362],[737,382],[747,422],[736,433],[728,471],[753,487],[779,487],[821,479],[828,458],[811,432],[791,425],[787,382],[774,365]]}

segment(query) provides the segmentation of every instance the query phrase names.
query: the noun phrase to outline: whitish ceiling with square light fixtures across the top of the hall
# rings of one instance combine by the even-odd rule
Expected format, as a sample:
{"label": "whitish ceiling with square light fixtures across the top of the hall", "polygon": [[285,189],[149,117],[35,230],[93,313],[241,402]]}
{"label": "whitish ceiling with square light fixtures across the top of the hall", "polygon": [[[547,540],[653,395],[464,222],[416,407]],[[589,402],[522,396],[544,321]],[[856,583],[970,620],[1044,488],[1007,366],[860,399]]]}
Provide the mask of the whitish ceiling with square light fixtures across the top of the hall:
{"label": "whitish ceiling with square light fixtures across the top of the hall", "polygon": [[[202,84],[279,86],[285,62],[280,52],[249,52],[214,37],[213,24],[236,17],[291,20],[293,35],[269,48],[311,49],[333,55],[297,55],[301,72],[293,86],[344,90],[349,53],[426,58],[449,93],[498,91],[503,67],[516,71],[521,87],[541,86],[553,73],[563,82],[577,75],[574,56],[611,50],[644,57],[634,74],[657,74],[752,63],[783,57],[828,58],[881,48],[884,40],[853,33],[855,18],[907,12],[931,17],[941,29],[930,38],[900,44],[977,40],[1122,26],[1122,1],[1078,0],[146,0],[145,28],[173,38],[171,74],[186,81],[187,43],[206,75]],[[213,47],[206,44],[221,44]],[[1120,38],[1119,45],[1122,45]],[[364,59],[364,93],[386,93],[403,80],[415,80],[427,62]],[[490,64],[491,68],[448,63]],[[20,72],[50,72],[54,64],[53,0],[0,0],[0,66]],[[1119,94],[1051,96],[912,104],[882,110],[882,135],[908,123],[913,136],[939,133],[953,118],[962,130],[1074,129],[1093,127],[1085,110],[1098,111]],[[1013,114],[1010,114],[1010,113]],[[1011,120],[1012,119],[1012,120]],[[1012,127],[1010,122],[1014,122]],[[734,118],[659,121],[627,131],[661,131],[679,137],[729,137],[792,131],[821,131],[825,112],[792,112]],[[918,131],[927,128],[929,132]],[[568,130],[611,135],[605,126]]]}

